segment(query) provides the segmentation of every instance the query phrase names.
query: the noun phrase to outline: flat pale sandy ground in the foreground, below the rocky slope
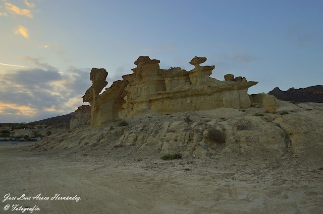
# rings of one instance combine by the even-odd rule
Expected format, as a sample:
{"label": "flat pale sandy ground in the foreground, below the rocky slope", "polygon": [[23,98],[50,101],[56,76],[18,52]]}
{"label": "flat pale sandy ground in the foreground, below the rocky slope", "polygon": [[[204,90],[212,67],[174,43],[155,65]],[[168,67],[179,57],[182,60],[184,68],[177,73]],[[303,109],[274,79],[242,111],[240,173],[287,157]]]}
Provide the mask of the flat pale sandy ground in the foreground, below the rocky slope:
{"label": "flat pale sandy ground in the foreground, below the rocky slope", "polygon": [[[0,142],[0,213],[22,213],[12,211],[14,204],[60,214],[323,213],[323,164],[310,158],[219,154],[163,161],[123,148],[36,152],[32,144]],[[3,202],[9,193],[31,198]],[[49,200],[33,199],[38,194]],[[55,194],[81,199],[50,200]]]}

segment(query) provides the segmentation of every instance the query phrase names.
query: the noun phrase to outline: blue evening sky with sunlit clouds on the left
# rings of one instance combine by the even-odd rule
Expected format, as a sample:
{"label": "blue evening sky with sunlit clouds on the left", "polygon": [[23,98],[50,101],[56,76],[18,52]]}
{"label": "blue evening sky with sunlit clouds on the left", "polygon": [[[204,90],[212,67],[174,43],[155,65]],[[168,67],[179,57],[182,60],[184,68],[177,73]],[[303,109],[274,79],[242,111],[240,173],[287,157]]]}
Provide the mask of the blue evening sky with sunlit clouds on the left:
{"label": "blue evening sky with sunlit clouds on the left", "polygon": [[110,87],[141,55],[191,70],[194,56],[257,81],[248,94],[322,85],[323,1],[0,0],[0,122],[75,111],[92,67]]}

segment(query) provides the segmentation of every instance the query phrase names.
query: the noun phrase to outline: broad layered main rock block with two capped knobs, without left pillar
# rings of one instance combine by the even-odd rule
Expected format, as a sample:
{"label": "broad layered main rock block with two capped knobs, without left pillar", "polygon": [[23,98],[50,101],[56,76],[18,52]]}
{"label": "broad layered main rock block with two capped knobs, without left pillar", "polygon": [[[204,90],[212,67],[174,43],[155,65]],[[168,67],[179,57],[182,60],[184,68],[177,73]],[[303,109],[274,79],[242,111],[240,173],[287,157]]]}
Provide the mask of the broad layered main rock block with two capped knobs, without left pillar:
{"label": "broad layered main rock block with two capped knobs, without left pillar", "polygon": [[214,65],[201,66],[205,57],[194,57],[194,69],[181,67],[160,69],[159,60],[140,56],[134,63],[133,74],[123,76],[129,82],[124,108],[136,111],[149,109],[158,113],[173,113],[215,108],[247,108],[247,89],[257,82],[219,81],[209,76]]}

